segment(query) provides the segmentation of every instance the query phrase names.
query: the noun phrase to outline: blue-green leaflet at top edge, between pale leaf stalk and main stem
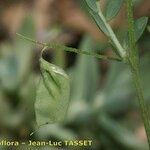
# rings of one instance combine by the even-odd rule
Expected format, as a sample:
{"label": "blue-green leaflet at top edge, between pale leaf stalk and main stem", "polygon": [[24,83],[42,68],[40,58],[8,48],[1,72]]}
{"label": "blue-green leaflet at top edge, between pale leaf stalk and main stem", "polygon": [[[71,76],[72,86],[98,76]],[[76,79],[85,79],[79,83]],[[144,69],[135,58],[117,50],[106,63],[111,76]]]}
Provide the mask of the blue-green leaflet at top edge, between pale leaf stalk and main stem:
{"label": "blue-green leaflet at top edge, between pale leaf stalk and main stem", "polygon": [[105,16],[107,20],[113,19],[118,13],[124,0],[107,0],[105,7]]}

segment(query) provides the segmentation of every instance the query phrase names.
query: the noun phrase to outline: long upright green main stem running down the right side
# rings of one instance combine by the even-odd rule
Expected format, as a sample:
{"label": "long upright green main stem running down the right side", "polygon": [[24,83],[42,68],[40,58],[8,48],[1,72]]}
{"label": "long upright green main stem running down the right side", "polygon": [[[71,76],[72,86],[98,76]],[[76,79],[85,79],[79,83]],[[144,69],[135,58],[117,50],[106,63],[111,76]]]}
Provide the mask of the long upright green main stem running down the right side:
{"label": "long upright green main stem running down the right side", "polygon": [[127,0],[127,16],[128,16],[128,36],[129,36],[129,52],[128,52],[128,63],[130,66],[130,70],[132,73],[133,83],[136,89],[136,93],[138,96],[139,106],[141,110],[142,120],[145,126],[145,131],[147,134],[147,139],[150,147],[150,122],[149,115],[146,106],[146,102],[143,96],[143,89],[140,81],[140,73],[139,73],[139,61],[138,61],[138,53],[136,47],[136,38],[134,31],[134,19],[133,19],[133,0]]}

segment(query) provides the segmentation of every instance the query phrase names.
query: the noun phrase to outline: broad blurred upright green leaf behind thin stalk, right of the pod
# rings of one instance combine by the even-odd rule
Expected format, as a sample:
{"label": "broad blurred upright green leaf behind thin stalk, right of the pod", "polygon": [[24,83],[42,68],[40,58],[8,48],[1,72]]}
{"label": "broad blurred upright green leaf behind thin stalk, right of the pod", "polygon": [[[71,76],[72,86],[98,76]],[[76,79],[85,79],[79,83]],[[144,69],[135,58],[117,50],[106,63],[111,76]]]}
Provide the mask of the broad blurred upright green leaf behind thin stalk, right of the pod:
{"label": "broad blurred upright green leaf behind thin stalk, right of the pod", "polygon": [[[89,36],[85,36],[79,48],[90,52],[91,49],[95,49],[95,44]],[[78,72],[78,75],[76,75],[76,72]],[[72,77],[72,99],[93,99],[98,88],[98,74],[98,62],[96,58],[79,55],[74,68],[74,76]],[[90,86],[92,89],[89,89]]]}

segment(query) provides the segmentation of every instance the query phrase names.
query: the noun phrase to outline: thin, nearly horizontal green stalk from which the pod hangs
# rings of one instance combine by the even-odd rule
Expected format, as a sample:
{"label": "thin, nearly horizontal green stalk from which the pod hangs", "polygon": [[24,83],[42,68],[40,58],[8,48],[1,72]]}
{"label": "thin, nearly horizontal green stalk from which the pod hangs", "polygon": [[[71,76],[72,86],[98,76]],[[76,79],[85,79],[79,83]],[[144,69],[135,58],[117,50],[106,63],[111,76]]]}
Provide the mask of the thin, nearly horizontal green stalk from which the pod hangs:
{"label": "thin, nearly horizontal green stalk from which the pod hangs", "polygon": [[105,56],[105,55],[100,55],[100,54],[97,54],[95,52],[87,52],[85,50],[80,50],[80,49],[76,49],[76,48],[72,48],[72,47],[67,47],[67,46],[64,46],[62,44],[58,44],[58,43],[42,43],[42,42],[39,42],[39,41],[36,41],[36,40],[33,40],[31,38],[28,38],[24,35],[21,35],[21,34],[18,34],[17,35],[19,37],[21,37],[22,39],[25,39],[25,40],[28,40],[34,44],[38,44],[38,45],[41,45],[43,47],[48,47],[48,48],[52,48],[52,49],[57,49],[57,50],[64,50],[64,51],[67,51],[67,52],[73,52],[73,53],[77,53],[77,54],[84,54],[84,55],[88,55],[88,56],[93,56],[95,58],[98,58],[98,59],[103,59],[103,60],[115,60],[115,61],[122,61],[121,58],[118,58],[118,57],[110,57],[110,56]]}

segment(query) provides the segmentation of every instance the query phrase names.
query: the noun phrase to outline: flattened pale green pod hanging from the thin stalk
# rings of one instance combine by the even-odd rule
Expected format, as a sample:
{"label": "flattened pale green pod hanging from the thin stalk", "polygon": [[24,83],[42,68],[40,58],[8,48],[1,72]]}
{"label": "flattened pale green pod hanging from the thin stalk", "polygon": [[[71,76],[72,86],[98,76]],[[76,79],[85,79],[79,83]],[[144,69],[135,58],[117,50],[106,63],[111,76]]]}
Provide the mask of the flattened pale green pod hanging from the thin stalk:
{"label": "flattened pale green pod hanging from the thin stalk", "polygon": [[37,88],[35,113],[37,124],[63,121],[69,104],[70,81],[61,68],[40,59],[42,77]]}

